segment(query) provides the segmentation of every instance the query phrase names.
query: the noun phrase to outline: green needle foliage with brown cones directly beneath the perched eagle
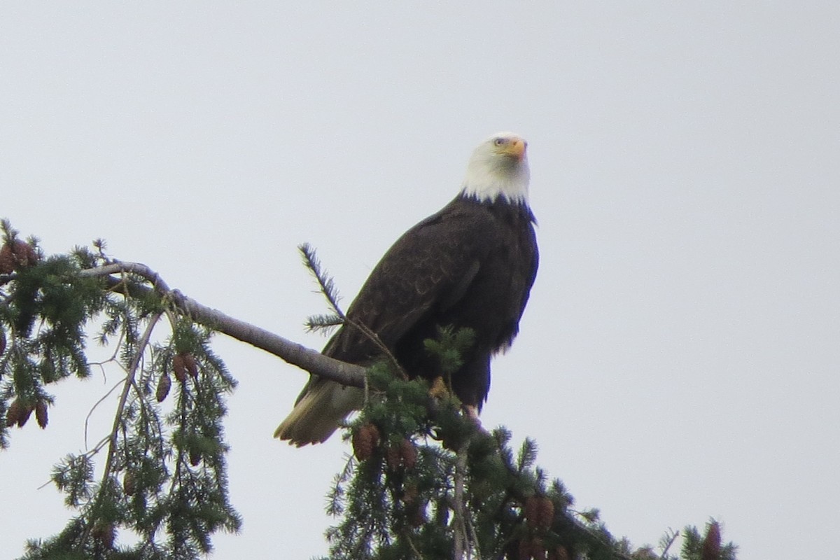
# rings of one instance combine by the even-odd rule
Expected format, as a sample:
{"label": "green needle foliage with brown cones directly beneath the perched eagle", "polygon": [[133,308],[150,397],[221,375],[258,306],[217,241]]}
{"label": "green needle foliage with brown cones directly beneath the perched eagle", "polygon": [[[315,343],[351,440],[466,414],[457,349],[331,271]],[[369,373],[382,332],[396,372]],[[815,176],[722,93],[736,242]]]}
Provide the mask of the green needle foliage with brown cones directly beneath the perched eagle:
{"label": "green needle foliage with brown cones directly beneath the perched eagle", "polygon": [[[441,335],[427,343],[438,356],[454,357],[469,339],[469,333]],[[460,414],[456,399],[432,400],[428,384],[396,377],[386,362],[370,369],[368,381],[370,399],[344,435],[354,456],[328,494],[328,513],[339,517],[326,533],[329,560],[449,559],[458,531],[472,551],[466,557],[659,557],[613,537],[597,510],[574,510],[564,484],[537,466],[532,440],[514,450],[505,428],[484,432]],[[465,489],[460,524],[459,485]],[[703,538],[686,531],[685,560],[734,560],[731,545],[719,556],[696,556]]]}

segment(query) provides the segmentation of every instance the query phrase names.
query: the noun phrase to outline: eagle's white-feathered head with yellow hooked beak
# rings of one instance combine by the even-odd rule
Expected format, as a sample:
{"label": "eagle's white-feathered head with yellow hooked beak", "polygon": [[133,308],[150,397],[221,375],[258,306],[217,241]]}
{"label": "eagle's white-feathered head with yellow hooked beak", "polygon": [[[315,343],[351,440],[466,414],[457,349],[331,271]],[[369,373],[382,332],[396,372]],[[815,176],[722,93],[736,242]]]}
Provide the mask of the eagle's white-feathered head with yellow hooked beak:
{"label": "eagle's white-feathered head with yellow hooked beak", "polygon": [[528,142],[518,134],[500,132],[479,144],[470,157],[461,192],[480,201],[528,205]]}

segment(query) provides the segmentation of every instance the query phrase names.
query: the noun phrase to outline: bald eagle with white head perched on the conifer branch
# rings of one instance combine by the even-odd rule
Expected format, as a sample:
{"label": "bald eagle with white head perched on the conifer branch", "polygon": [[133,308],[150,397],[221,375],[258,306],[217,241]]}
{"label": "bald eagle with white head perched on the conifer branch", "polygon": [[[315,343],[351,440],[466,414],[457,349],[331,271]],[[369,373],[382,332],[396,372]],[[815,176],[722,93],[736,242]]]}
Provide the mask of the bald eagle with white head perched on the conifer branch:
{"label": "bald eagle with white head perched on the conifer branch", "polygon": [[[475,339],[450,379],[473,415],[490,390],[491,356],[516,337],[537,274],[527,145],[513,133],[482,142],[458,196],[396,240],[346,312],[374,332],[412,378],[440,375],[423,343],[437,338],[439,327],[472,329]],[[348,322],[323,353],[365,365],[381,358],[380,348]],[[360,389],[312,375],[274,435],[297,446],[324,442],[360,406]]]}

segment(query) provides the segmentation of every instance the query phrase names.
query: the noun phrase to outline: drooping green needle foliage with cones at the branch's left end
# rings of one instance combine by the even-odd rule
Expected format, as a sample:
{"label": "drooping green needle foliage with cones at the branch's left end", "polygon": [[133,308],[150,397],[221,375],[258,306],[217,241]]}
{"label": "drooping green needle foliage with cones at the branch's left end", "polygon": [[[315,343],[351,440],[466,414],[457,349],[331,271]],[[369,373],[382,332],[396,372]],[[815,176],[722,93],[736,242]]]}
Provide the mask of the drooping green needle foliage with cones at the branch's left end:
{"label": "drooping green needle foliage with cones at the branch's left end", "polygon": [[[4,229],[5,243],[13,243],[16,233],[8,223]],[[179,317],[148,280],[86,275],[118,264],[103,243],[96,248],[39,254],[0,276],[3,446],[9,428],[22,427],[10,412],[35,410],[45,427],[50,384],[90,374],[85,352],[94,327],[98,343],[115,347],[102,365],[123,375],[112,431],[53,470],[76,516],[59,535],[28,542],[24,558],[197,558],[212,551],[214,532],[241,525],[228,502],[223,433],[224,398],[235,381],[210,348],[212,332]],[[162,317],[169,317],[170,332],[155,342]]]}

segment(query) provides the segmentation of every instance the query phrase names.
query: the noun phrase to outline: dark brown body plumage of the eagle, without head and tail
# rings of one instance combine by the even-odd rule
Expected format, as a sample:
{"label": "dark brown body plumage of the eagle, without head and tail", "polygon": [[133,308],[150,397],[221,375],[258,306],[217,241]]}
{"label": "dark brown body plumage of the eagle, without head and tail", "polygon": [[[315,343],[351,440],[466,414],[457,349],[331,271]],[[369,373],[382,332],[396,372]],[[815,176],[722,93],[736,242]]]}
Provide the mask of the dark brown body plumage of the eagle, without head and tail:
{"label": "dark brown body plumage of the eagle, without head and tail", "polygon": [[[537,273],[533,224],[526,205],[460,195],[397,239],[347,316],[375,332],[410,376],[428,379],[440,366],[423,340],[436,338],[438,327],[470,327],[475,343],[452,385],[465,405],[480,408],[490,390],[491,356],[516,337]],[[381,354],[350,325],[324,353],[354,364]]]}

